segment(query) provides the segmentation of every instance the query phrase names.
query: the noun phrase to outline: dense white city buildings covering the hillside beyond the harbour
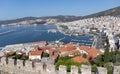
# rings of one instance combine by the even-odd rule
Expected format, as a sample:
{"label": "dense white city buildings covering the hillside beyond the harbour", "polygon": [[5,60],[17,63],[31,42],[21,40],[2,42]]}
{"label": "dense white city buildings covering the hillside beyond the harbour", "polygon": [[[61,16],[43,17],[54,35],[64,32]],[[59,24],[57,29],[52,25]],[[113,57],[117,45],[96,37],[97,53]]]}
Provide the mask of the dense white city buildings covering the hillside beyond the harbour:
{"label": "dense white city buildings covering the hillside beyond the harbour", "polygon": [[81,35],[90,34],[92,32],[96,33],[99,37],[101,37],[101,35],[107,36],[111,49],[116,48],[115,44],[117,44],[117,48],[120,45],[120,37],[116,37],[116,35],[120,34],[120,17],[101,16],[59,23],[59,25],[59,29],[61,29],[64,34]]}

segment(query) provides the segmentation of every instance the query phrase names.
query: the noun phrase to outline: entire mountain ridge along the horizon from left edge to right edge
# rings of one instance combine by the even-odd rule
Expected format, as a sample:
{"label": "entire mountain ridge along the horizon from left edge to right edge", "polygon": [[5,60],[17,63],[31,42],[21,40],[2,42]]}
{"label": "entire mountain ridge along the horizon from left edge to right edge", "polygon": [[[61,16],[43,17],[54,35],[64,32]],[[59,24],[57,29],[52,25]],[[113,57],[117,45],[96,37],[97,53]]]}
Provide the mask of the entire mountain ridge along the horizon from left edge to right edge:
{"label": "entire mountain ridge along the horizon from left edge to right edge", "polygon": [[108,9],[102,12],[98,12],[95,14],[87,15],[87,16],[46,16],[46,17],[24,17],[24,18],[18,18],[18,19],[13,19],[13,20],[5,20],[5,21],[0,21],[0,24],[9,24],[9,23],[16,23],[16,22],[21,22],[25,20],[35,20],[35,19],[56,19],[58,22],[70,22],[70,21],[75,21],[83,18],[90,18],[90,17],[99,17],[99,16],[120,16],[120,6],[115,7],[112,9]]}

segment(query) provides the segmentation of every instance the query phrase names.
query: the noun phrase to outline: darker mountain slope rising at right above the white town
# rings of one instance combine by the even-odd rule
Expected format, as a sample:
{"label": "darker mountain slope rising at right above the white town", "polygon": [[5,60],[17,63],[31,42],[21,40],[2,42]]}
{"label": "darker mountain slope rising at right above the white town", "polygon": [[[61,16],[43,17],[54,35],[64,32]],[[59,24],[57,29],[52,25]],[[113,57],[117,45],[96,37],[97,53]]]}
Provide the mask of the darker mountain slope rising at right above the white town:
{"label": "darker mountain slope rising at right above the white town", "polygon": [[89,17],[99,17],[99,16],[120,16],[120,6],[108,9],[102,12],[94,13],[91,15],[84,16],[84,18],[89,18]]}

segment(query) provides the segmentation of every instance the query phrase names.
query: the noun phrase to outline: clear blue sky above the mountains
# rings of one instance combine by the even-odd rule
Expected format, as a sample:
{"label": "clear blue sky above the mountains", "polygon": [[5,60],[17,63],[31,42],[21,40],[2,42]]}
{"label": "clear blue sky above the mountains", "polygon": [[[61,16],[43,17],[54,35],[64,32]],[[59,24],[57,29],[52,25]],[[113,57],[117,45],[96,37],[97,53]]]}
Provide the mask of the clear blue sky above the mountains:
{"label": "clear blue sky above the mountains", "polygon": [[120,0],[0,0],[0,20],[28,16],[84,16],[117,6],[120,6]]}

